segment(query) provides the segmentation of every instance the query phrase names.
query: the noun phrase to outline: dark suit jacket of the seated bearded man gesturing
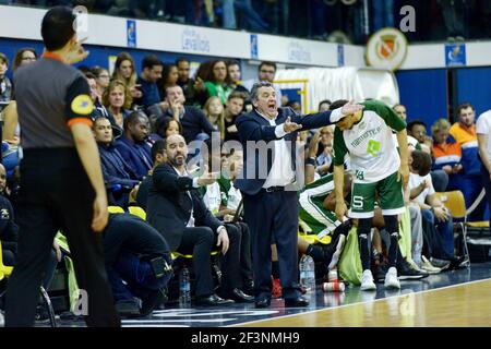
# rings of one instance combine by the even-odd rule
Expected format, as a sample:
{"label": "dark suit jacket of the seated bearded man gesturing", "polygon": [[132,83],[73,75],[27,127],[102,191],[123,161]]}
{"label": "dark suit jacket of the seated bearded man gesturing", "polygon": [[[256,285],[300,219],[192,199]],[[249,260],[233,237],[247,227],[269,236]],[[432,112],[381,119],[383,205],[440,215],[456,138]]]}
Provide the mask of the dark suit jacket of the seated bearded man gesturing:
{"label": "dark suit jacket of the seated bearded man gesturing", "polygon": [[[169,164],[155,168],[148,190],[146,214],[148,222],[176,251],[184,233],[191,212],[195,227],[209,227],[216,232],[221,222],[206,208],[190,177],[180,177]],[[191,194],[188,195],[188,192]]]}

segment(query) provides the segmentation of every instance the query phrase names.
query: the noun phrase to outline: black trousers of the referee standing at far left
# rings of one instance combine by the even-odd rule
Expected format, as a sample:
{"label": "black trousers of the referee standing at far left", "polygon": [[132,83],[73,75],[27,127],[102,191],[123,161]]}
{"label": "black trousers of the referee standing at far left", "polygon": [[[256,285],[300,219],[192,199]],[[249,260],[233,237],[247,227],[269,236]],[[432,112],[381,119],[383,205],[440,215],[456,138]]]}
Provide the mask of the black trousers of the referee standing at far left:
{"label": "black trousers of the referee standing at far left", "polygon": [[94,191],[75,148],[26,149],[21,163],[17,263],[7,290],[5,326],[33,326],[55,234],[67,236],[88,326],[119,326],[101,234],[91,228]]}

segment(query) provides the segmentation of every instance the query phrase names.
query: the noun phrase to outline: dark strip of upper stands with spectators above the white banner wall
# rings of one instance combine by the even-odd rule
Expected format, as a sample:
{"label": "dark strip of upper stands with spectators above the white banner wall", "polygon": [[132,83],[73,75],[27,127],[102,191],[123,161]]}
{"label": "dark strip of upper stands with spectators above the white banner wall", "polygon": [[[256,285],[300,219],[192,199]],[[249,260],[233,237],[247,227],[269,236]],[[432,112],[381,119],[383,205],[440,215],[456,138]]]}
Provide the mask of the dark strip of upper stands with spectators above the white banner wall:
{"label": "dark strip of upper stands with spectators above the white banner wall", "polygon": [[354,44],[364,44],[382,27],[399,27],[408,14],[400,9],[410,5],[416,31],[406,33],[409,40],[491,35],[491,5],[487,0],[0,0],[0,4],[81,4],[93,13]]}

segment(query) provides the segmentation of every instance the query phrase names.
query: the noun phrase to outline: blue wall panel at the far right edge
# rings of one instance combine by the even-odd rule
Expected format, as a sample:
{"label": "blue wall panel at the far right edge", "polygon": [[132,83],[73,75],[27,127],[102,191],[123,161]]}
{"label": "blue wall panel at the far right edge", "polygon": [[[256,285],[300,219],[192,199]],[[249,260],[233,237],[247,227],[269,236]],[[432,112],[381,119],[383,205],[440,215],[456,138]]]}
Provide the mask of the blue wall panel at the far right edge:
{"label": "blue wall panel at the far right edge", "polygon": [[491,68],[458,69],[457,104],[471,103],[476,108],[476,118],[491,109]]}

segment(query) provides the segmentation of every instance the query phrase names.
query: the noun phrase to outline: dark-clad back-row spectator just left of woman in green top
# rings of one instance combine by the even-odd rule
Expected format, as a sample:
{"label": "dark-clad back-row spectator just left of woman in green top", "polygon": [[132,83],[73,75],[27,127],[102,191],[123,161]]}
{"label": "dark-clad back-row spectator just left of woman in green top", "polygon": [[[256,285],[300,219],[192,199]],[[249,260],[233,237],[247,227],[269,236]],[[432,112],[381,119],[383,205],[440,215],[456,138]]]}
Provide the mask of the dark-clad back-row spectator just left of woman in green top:
{"label": "dark-clad back-row spectator just left of woman in green top", "polygon": [[[178,69],[177,84],[184,93],[185,105],[201,108],[208,98],[204,81],[200,76],[196,76],[196,80],[190,76],[191,65],[187,58],[178,58],[176,67]],[[163,96],[165,96],[165,91]]]}

